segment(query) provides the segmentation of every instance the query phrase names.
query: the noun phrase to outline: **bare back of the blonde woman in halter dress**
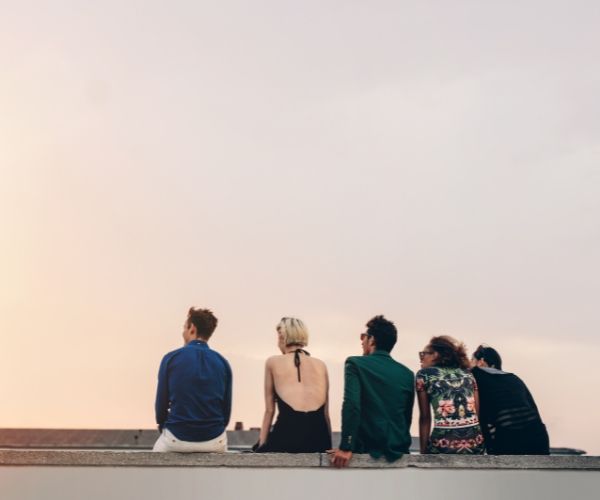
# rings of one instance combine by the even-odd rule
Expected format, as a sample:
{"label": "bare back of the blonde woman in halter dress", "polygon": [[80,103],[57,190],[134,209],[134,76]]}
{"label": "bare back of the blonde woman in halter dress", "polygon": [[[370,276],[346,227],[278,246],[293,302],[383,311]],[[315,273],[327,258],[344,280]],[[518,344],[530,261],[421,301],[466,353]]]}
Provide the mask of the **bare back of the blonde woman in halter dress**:
{"label": "bare back of the blonde woman in halter dress", "polygon": [[[294,364],[294,353],[269,358],[274,392],[296,411],[313,411],[327,402],[329,380],[325,363],[299,354],[300,365]],[[298,369],[300,381],[298,381]]]}

